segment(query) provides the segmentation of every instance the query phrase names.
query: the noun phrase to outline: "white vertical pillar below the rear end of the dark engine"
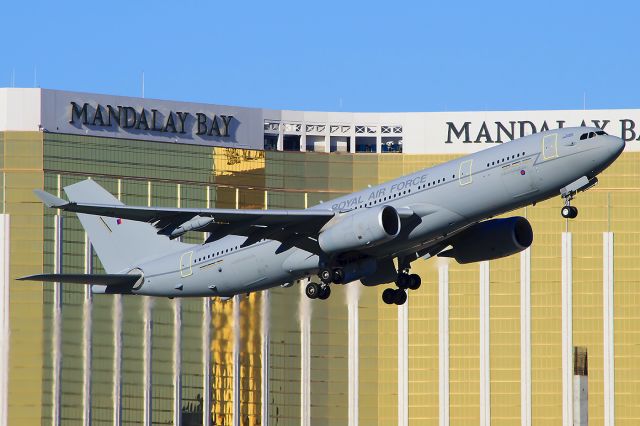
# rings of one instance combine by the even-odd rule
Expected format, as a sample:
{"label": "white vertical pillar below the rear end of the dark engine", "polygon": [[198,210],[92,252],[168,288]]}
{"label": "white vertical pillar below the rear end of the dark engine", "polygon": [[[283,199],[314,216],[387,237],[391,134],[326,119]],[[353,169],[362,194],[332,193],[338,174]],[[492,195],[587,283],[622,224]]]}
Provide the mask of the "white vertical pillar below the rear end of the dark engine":
{"label": "white vertical pillar below the rear end of the dark engine", "polygon": [[438,394],[440,426],[449,425],[449,266],[438,267]]}

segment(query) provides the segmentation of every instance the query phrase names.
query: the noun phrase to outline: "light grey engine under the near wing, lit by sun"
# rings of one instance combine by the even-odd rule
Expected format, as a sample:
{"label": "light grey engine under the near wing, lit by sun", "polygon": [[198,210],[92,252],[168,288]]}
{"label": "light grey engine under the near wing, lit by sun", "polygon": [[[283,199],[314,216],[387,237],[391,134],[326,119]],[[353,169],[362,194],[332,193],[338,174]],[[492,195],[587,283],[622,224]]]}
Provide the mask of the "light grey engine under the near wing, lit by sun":
{"label": "light grey engine under the near wing, lit by sun", "polygon": [[323,230],[318,244],[325,253],[374,247],[397,237],[400,217],[391,206],[362,209]]}

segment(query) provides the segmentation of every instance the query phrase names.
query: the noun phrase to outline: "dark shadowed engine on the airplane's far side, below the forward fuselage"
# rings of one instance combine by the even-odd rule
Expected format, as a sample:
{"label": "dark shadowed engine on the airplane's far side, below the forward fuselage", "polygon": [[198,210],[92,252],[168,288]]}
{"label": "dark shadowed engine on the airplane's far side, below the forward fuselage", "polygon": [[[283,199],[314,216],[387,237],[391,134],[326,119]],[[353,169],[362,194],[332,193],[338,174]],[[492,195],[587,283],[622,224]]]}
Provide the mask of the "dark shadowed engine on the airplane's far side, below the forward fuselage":
{"label": "dark shadowed engine on the airplane's far side, below the forward fuselage", "polygon": [[452,249],[439,256],[453,257],[458,263],[499,259],[518,253],[533,242],[529,221],[520,216],[492,219],[473,225],[457,235]]}

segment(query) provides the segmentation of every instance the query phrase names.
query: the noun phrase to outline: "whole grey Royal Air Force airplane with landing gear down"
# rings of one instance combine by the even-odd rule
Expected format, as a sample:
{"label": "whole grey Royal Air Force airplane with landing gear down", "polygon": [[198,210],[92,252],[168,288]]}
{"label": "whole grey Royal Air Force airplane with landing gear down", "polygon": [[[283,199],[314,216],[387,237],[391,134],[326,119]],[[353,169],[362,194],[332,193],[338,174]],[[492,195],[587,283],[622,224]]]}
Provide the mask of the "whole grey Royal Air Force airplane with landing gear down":
{"label": "whole grey Royal Air Force airplane with landing gear down", "polygon": [[[624,150],[598,128],[550,130],[496,145],[305,210],[127,206],[92,180],[65,188],[69,201],[41,190],[47,207],[76,212],[106,274],[21,278],[88,284],[93,293],[231,297],[317,277],[308,297],[332,284],[395,283],[382,294],[401,305],[421,280],[417,259],[459,263],[498,259],[533,242],[527,219],[490,219],[560,195],[575,218],[574,196]],[[203,244],[180,241],[205,232]]]}

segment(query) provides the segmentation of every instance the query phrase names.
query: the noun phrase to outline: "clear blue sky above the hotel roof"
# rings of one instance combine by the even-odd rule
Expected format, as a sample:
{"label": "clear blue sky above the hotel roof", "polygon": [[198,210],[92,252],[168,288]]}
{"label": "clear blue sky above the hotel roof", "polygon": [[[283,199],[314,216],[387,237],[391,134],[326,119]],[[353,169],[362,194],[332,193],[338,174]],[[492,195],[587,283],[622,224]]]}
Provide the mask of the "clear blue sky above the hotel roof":
{"label": "clear blue sky above the hotel roof", "polygon": [[585,94],[589,109],[640,107],[634,1],[7,0],[0,11],[0,86],[140,96],[144,72],[149,98],[276,109],[579,109]]}

